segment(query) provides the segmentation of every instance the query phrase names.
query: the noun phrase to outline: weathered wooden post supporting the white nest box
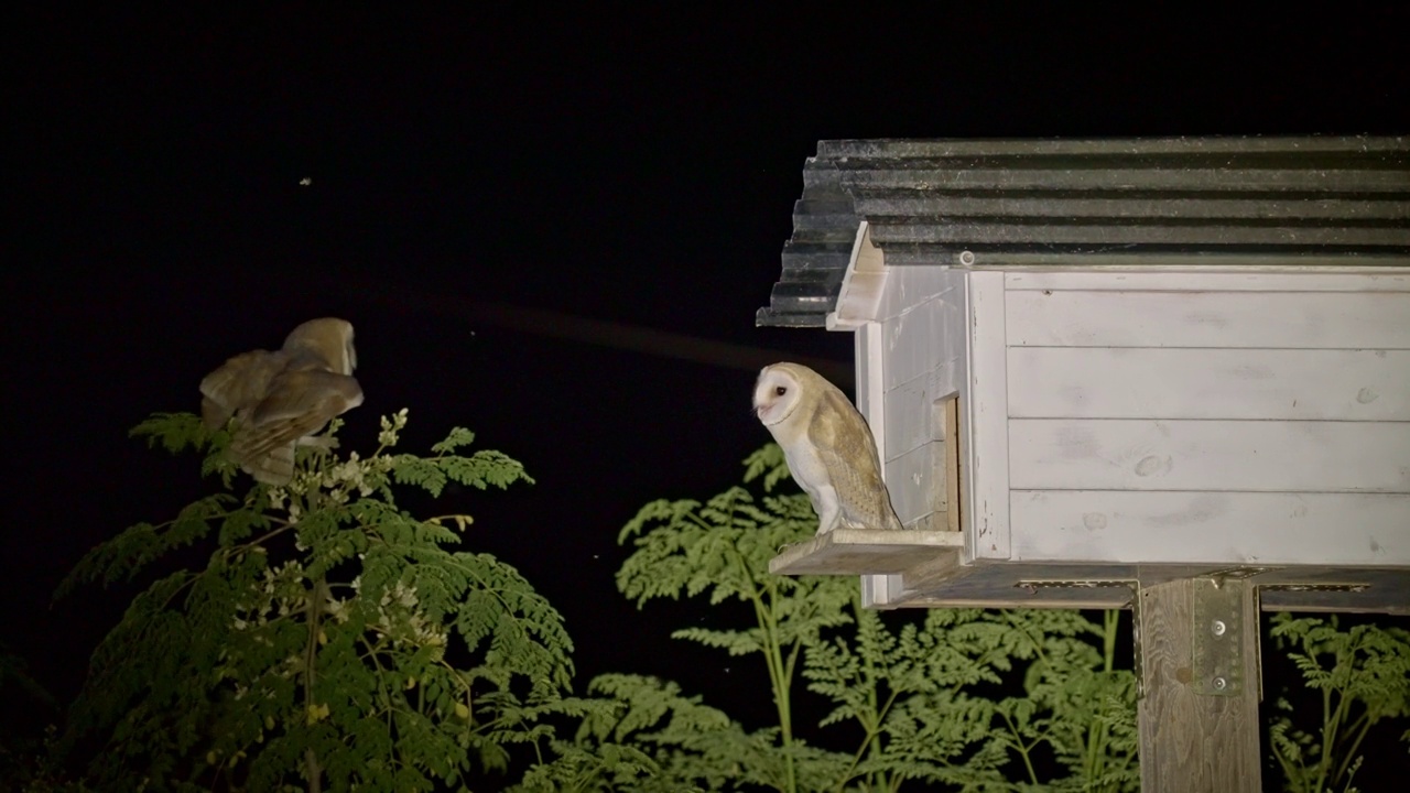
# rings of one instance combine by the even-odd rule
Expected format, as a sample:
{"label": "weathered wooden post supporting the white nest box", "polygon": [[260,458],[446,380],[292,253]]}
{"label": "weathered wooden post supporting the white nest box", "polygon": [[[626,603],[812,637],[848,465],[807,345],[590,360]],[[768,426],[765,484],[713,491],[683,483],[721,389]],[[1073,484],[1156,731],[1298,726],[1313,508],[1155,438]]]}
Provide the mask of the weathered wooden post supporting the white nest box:
{"label": "weathered wooden post supporting the white nest box", "polygon": [[[1244,680],[1258,680],[1258,607],[1248,581],[1241,590]],[[1256,793],[1259,772],[1258,686],[1238,696],[1196,693],[1193,649],[1194,581],[1141,587],[1136,652],[1144,696],[1139,701],[1141,790],[1144,793]]]}

